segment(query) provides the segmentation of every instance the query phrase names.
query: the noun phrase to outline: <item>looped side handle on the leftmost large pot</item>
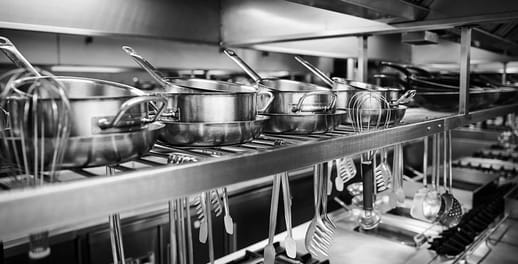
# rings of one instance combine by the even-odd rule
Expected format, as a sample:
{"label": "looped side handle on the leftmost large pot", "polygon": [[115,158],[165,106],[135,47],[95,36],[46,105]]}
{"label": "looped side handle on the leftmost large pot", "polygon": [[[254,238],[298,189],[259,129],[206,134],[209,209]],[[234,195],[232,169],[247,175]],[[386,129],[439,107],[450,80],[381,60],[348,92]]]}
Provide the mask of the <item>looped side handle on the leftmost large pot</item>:
{"label": "looped side handle on the leftmost large pot", "polygon": [[[157,109],[156,105],[153,103],[153,102],[157,102],[157,101],[162,103],[160,105],[160,108],[158,108],[158,109]],[[126,114],[126,112],[128,110],[130,110],[131,108],[133,108],[133,107],[135,107],[137,105],[140,105],[140,104],[143,104],[143,103],[147,103],[147,102],[152,103],[153,108],[157,109],[157,113],[155,114],[155,116],[153,118],[151,118],[151,119],[149,119],[149,118],[142,118],[139,121],[124,122],[124,123],[121,122],[122,117],[124,116],[124,114]],[[99,121],[97,121],[97,125],[101,129],[108,129],[108,128],[115,128],[115,127],[125,127],[125,126],[133,126],[133,125],[142,125],[142,124],[152,123],[152,122],[155,122],[156,119],[162,114],[162,111],[164,110],[166,105],[167,105],[167,99],[162,97],[162,96],[138,96],[138,97],[134,97],[134,98],[131,98],[131,99],[127,100],[126,102],[124,102],[121,105],[121,107],[119,109],[119,112],[115,115],[115,117],[112,120],[108,120],[107,118],[102,118],[102,119],[99,119]]]}

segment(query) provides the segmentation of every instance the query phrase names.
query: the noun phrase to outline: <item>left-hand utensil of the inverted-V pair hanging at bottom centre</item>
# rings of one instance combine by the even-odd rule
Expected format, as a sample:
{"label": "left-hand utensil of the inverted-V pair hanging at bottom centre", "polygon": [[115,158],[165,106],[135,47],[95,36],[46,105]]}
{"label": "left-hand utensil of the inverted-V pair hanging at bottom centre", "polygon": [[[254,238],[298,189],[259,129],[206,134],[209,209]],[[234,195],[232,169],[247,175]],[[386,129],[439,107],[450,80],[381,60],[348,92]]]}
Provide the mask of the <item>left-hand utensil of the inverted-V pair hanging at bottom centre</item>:
{"label": "left-hand utensil of the inverted-V pair hanging at bottom centre", "polygon": [[279,206],[279,191],[281,185],[281,175],[273,176],[272,199],[270,204],[270,225],[268,231],[268,245],[264,248],[264,263],[275,263],[275,247],[273,246],[273,238],[275,237],[275,227],[277,224],[277,209]]}

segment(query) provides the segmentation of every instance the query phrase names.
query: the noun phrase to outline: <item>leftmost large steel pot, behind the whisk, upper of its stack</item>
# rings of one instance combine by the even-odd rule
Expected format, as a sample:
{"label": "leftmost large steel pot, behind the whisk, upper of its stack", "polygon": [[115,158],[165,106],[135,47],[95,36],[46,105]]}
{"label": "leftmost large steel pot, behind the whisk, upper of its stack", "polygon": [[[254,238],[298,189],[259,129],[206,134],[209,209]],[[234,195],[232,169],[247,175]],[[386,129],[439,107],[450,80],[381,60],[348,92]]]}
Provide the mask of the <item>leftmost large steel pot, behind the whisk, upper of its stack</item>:
{"label": "leftmost large steel pot, behind the whisk, upper of its stack", "polygon": [[[63,76],[31,77],[17,80],[13,87],[7,87],[12,93],[7,96],[2,106],[11,115],[11,120],[23,120],[24,109],[30,99],[23,96],[31,86],[59,85],[70,102],[69,117],[72,121],[70,136],[90,136],[97,134],[123,132],[140,129],[152,123],[165,107],[166,99],[160,96],[142,95],[142,91],[124,84]],[[147,116],[147,103],[160,103],[158,115],[153,118]],[[40,98],[38,103],[38,118],[49,120],[46,137],[55,136],[50,129],[53,117],[48,109],[54,107],[51,100]],[[13,128],[16,126],[13,124]]]}

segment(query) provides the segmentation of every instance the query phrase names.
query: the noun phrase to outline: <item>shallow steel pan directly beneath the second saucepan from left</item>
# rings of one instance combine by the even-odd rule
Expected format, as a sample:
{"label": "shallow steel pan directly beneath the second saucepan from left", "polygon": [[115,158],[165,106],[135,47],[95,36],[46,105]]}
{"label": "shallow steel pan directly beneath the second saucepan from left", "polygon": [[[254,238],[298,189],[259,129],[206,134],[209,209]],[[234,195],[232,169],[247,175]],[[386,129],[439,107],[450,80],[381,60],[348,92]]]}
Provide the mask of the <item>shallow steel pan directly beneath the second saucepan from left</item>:
{"label": "shallow steel pan directly beneath the second saucepan from left", "polygon": [[268,117],[258,115],[252,121],[223,123],[163,121],[159,140],[174,146],[214,147],[242,144],[258,137]]}

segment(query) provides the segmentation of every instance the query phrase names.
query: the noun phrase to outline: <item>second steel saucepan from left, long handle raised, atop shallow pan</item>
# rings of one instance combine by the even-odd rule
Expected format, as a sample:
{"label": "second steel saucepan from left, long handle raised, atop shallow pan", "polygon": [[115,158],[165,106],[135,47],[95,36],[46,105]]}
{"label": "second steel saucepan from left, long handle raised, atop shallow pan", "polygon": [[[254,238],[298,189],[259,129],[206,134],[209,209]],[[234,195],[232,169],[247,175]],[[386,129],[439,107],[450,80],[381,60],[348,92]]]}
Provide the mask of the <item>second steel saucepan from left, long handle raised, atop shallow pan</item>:
{"label": "second steel saucepan from left, long handle raised, atop shallow pan", "polygon": [[[167,78],[146,59],[128,46],[122,48],[131,58],[163,87],[160,94],[167,98],[163,117],[178,122],[235,122],[254,121],[257,113],[265,111],[273,101],[273,94],[262,89],[229,82],[196,78]],[[257,96],[268,98],[258,107]]]}

